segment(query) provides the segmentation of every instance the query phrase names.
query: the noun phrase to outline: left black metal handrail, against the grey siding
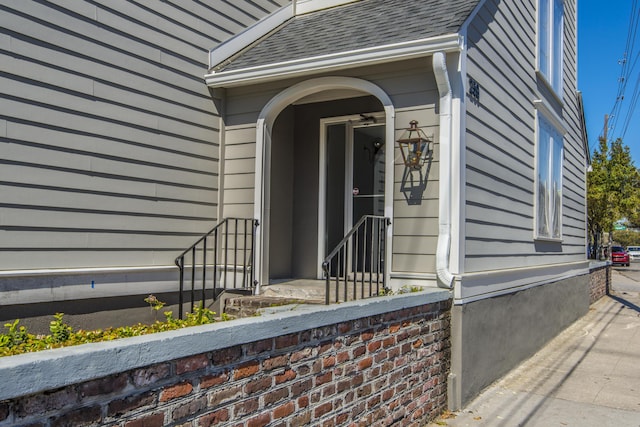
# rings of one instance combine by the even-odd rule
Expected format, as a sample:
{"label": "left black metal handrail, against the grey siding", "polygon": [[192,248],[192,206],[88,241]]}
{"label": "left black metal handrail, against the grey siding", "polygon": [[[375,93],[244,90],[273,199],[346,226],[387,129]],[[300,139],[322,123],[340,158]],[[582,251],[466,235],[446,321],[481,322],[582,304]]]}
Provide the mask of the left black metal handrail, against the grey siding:
{"label": "left black metal handrail, against the grey siding", "polygon": [[[255,231],[258,221],[247,218],[225,218],[211,231],[206,233],[191,247],[182,252],[175,260],[180,270],[180,293],[178,296],[178,316],[183,317],[184,282],[185,272],[190,271],[191,276],[191,312],[193,312],[196,300],[196,274],[198,281],[202,283],[200,298],[202,306],[207,300],[207,270],[210,270],[211,286],[209,293],[215,300],[221,290],[244,289],[252,290],[254,287],[253,276],[253,249],[255,244]],[[231,280],[229,275],[232,274]],[[238,286],[240,282],[240,286]]]}

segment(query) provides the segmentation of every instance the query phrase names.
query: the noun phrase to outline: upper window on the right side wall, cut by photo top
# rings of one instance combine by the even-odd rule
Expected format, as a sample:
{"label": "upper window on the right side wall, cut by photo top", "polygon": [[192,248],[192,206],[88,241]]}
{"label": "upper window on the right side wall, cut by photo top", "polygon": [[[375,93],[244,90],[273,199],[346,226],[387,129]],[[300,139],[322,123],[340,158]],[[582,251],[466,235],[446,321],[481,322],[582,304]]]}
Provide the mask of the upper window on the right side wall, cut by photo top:
{"label": "upper window on the right side wall, cut by photo top", "polygon": [[536,70],[558,97],[564,74],[564,0],[538,0]]}

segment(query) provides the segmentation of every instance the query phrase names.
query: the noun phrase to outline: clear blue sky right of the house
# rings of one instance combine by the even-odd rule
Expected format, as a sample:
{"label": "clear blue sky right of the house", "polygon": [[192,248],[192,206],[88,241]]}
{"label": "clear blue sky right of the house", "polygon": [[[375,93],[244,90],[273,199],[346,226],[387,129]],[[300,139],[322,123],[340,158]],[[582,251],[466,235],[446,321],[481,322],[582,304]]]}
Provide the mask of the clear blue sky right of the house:
{"label": "clear blue sky right of the house", "polygon": [[[634,0],[578,1],[578,89],[584,100],[587,132],[591,153],[602,134],[605,114],[611,113],[618,95],[618,79],[622,70],[629,32],[629,20]],[[631,55],[640,51],[640,36]],[[633,63],[631,58],[629,64]],[[609,139],[622,136],[629,102],[640,75],[640,61],[633,68],[618,120],[609,132]],[[630,116],[623,142],[631,149],[636,167],[640,166],[640,106]],[[612,123],[614,123],[612,119]]]}

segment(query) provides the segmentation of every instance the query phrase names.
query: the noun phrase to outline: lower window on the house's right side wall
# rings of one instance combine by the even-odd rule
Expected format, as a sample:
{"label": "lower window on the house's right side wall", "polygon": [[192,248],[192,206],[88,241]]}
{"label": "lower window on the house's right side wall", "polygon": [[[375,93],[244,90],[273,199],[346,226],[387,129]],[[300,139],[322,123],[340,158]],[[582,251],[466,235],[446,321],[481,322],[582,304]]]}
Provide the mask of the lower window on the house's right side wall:
{"label": "lower window on the house's right side wall", "polygon": [[[543,102],[536,102],[536,145],[534,180],[534,239],[562,241],[564,196],[564,135],[562,120]],[[543,139],[544,138],[544,139]],[[542,153],[541,149],[546,149]],[[545,160],[544,163],[543,160]],[[543,168],[544,166],[544,168]],[[559,197],[544,197],[540,192],[540,177],[546,171],[545,187],[548,194],[558,194],[551,188],[557,184]],[[559,205],[559,206],[558,206]],[[555,215],[554,215],[555,214]],[[546,232],[541,232],[541,219],[545,215]],[[557,224],[554,226],[554,224]],[[557,230],[556,230],[557,229]]]}

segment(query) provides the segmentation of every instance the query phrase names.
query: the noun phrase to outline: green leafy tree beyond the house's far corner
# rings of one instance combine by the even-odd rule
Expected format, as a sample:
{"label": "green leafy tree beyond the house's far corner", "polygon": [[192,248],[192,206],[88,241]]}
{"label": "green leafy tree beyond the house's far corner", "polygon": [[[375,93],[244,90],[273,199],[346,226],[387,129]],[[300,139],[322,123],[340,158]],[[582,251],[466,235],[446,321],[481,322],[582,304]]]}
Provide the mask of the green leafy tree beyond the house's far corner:
{"label": "green leafy tree beyond the house's far corner", "polygon": [[630,224],[640,223],[640,174],[629,147],[620,138],[610,145],[602,137],[599,142],[587,174],[587,221],[594,248],[601,245],[603,232],[611,235],[615,221],[627,218]]}

